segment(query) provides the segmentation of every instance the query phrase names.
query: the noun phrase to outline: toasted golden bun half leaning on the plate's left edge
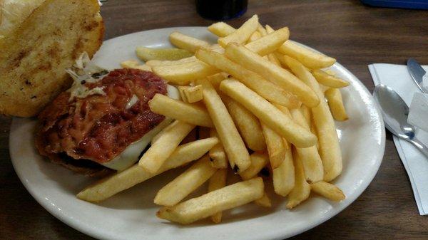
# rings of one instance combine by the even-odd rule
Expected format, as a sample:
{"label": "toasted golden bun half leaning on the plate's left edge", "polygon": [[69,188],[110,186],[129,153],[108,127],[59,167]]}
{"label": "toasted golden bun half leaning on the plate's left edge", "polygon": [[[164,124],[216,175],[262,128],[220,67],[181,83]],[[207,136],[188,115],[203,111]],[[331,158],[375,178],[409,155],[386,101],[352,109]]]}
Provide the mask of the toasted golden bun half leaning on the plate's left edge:
{"label": "toasted golden bun half leaning on the plate's left edge", "polygon": [[0,0],[0,114],[29,117],[71,85],[64,71],[101,46],[97,0]]}

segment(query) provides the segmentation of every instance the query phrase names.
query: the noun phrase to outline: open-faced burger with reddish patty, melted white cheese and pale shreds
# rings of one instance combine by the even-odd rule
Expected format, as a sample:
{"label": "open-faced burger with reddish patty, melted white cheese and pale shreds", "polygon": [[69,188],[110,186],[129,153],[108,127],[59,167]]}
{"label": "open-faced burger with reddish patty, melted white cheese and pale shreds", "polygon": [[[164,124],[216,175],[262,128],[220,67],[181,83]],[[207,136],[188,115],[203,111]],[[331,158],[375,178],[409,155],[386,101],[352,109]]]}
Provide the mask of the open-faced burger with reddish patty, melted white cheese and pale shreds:
{"label": "open-faced burger with reddish patty, melted white cheese and pale shreds", "polygon": [[108,72],[85,53],[67,72],[73,85],[39,114],[36,147],[52,162],[89,176],[121,171],[172,121],[148,101],[156,93],[178,99],[178,90],[151,72]]}

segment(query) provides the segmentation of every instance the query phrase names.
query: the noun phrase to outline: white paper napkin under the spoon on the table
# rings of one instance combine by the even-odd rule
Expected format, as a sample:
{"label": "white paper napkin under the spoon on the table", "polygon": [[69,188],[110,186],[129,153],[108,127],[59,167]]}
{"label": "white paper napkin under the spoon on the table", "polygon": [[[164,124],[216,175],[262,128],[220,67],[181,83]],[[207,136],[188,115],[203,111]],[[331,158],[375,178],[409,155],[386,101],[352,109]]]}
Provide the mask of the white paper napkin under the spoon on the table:
{"label": "white paper napkin under the spoon on the table", "polygon": [[[423,66],[428,72],[428,66]],[[407,71],[407,66],[375,63],[369,65],[374,85],[388,85],[410,106],[414,93],[421,93]],[[413,110],[412,110],[413,111]],[[428,120],[426,120],[428,122]],[[417,138],[428,145],[428,132],[417,130]],[[395,147],[409,175],[419,214],[428,214],[428,158],[409,142],[394,136]]]}

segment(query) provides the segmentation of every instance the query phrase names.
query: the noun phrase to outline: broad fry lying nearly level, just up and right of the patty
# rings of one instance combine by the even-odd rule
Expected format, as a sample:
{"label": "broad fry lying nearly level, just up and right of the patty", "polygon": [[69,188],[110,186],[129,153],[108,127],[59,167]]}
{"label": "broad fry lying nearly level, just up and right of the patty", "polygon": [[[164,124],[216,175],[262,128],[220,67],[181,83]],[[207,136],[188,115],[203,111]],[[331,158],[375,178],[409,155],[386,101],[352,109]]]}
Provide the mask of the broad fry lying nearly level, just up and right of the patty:
{"label": "broad fry lying nearly level, just up and right of the patty", "polygon": [[191,81],[205,78],[218,71],[201,61],[182,63],[172,66],[154,66],[153,73],[176,85],[188,85]]}

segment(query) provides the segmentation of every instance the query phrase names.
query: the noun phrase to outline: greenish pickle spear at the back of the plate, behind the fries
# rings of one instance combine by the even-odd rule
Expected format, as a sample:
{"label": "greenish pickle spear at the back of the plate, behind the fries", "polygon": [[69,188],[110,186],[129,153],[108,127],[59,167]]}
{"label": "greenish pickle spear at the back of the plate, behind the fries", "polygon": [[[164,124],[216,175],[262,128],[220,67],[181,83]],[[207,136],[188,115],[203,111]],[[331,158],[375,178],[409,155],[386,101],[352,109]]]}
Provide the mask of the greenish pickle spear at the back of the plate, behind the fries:
{"label": "greenish pickle spear at the back of the plate, behind the fries", "polygon": [[137,47],[136,54],[142,61],[168,60],[175,61],[181,58],[188,58],[193,54],[187,50],[179,48],[146,48]]}

